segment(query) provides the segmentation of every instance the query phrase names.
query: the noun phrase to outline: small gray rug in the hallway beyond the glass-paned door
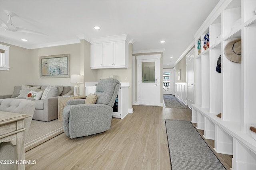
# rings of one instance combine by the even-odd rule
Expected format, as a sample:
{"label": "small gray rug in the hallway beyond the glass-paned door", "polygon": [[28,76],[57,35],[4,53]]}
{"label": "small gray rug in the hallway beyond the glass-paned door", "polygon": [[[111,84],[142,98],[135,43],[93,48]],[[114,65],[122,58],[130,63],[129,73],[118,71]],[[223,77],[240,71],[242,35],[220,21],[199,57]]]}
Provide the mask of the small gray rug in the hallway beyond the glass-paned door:
{"label": "small gray rug in the hallway beyond the glass-paned door", "polygon": [[175,96],[172,94],[164,94],[164,104],[165,107],[170,108],[180,108],[180,109],[186,109],[186,105],[180,102]]}

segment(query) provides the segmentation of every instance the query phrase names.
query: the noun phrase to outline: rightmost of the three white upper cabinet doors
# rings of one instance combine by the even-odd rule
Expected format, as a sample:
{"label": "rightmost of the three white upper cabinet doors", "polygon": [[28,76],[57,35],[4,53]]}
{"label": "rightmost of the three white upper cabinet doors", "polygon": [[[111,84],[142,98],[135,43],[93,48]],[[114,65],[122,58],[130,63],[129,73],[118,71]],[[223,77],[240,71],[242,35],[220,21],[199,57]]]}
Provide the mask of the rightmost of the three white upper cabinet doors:
{"label": "rightmost of the three white upper cabinet doors", "polygon": [[114,63],[113,66],[125,65],[125,41],[114,42]]}

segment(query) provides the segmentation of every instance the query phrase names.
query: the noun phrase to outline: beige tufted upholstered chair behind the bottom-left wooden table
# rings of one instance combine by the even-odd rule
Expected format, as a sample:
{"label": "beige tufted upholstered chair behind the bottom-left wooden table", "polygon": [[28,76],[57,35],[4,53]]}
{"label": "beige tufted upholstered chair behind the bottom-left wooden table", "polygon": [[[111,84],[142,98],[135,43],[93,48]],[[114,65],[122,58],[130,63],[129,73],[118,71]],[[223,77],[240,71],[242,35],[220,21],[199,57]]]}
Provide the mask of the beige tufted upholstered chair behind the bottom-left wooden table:
{"label": "beige tufted upholstered chair behind the bottom-left wooden table", "polygon": [[[24,137],[28,135],[28,130],[34,115],[36,104],[25,99],[0,99],[0,111],[14,112],[30,115],[24,120]],[[25,141],[24,139],[24,141]],[[0,143],[0,160],[14,160],[14,147],[10,142]],[[0,170],[13,170],[14,164],[0,164]]]}

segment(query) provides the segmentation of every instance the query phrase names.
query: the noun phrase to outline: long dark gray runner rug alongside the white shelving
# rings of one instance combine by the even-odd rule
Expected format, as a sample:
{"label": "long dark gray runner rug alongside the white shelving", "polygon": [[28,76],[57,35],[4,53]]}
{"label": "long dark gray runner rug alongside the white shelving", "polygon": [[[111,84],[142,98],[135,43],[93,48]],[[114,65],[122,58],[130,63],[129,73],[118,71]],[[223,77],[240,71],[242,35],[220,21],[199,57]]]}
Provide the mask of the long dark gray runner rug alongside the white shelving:
{"label": "long dark gray runner rug alongside the white shelving", "polygon": [[165,119],[172,170],[225,170],[190,121]]}

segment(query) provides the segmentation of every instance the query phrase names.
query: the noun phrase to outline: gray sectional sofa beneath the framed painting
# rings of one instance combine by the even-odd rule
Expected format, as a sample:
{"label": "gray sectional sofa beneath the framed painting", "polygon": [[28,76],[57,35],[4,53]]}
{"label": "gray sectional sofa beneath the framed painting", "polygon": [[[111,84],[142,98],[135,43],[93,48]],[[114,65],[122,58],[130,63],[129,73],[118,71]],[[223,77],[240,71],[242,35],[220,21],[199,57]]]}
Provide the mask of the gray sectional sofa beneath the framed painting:
{"label": "gray sectional sofa beneath the framed painting", "polygon": [[[30,91],[28,87],[31,87],[32,91],[42,91],[42,99],[35,100],[32,98],[28,98],[28,91]],[[38,88],[39,87],[39,88]],[[48,86],[41,86],[41,85],[22,85],[22,86],[15,86],[13,94],[9,95],[0,95],[0,99],[4,98],[16,98],[16,99],[26,99],[35,102],[36,109],[34,111],[33,120],[40,120],[40,121],[51,121],[54,119],[58,119],[58,97],[66,96],[66,95],[73,95],[74,91],[73,88],[70,86],[50,86],[54,87],[55,93],[48,93],[46,91],[49,90]],[[36,88],[36,90],[35,90]],[[25,96],[22,95],[22,92],[25,92]],[[53,91],[52,91],[53,92]],[[46,94],[46,96],[44,95]]]}

